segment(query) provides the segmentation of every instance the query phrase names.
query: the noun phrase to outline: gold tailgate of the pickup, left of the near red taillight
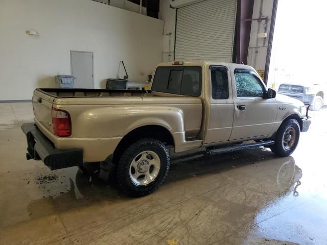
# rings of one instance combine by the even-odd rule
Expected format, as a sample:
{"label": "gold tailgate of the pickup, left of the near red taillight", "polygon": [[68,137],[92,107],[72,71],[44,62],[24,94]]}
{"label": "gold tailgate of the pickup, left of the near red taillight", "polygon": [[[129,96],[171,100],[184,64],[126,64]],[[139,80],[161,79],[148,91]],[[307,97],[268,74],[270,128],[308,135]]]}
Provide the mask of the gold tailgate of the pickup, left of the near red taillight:
{"label": "gold tailgate of the pickup, left of the near red taillight", "polygon": [[33,110],[35,122],[41,124],[48,131],[53,133],[52,128],[52,104],[54,97],[40,90],[34,90]]}

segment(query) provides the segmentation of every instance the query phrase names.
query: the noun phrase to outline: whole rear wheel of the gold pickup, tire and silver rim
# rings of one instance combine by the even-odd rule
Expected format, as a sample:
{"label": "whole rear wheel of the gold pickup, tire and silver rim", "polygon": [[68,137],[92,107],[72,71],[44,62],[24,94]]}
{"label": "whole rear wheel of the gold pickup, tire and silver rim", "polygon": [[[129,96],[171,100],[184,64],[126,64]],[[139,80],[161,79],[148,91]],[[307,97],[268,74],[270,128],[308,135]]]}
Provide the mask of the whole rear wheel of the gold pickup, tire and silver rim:
{"label": "whole rear wheel of the gold pickup, tire and silver rim", "polygon": [[169,167],[169,152],[164,143],[152,138],[136,141],[118,163],[118,188],[134,197],[150,194],[165,181]]}

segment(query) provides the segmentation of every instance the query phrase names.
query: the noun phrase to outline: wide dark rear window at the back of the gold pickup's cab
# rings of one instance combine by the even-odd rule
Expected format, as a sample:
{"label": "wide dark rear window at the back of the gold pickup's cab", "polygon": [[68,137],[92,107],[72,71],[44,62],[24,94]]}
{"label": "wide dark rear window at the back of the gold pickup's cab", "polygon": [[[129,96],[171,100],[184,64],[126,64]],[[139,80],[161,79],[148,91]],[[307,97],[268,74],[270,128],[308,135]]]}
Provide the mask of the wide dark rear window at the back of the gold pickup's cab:
{"label": "wide dark rear window at the back of the gold pickup's cab", "polygon": [[200,66],[157,67],[152,90],[197,97],[201,94],[201,72]]}

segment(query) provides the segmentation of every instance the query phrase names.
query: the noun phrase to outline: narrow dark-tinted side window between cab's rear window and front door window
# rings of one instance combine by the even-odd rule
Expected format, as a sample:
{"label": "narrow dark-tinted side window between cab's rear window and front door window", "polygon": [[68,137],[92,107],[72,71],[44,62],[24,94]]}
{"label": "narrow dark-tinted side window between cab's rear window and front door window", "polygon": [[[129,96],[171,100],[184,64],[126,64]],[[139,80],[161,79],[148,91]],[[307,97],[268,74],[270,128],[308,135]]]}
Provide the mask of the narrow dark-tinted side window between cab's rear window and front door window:
{"label": "narrow dark-tinted side window between cab's rear window and front door window", "polygon": [[214,100],[228,99],[228,76],[227,68],[211,66],[211,94]]}

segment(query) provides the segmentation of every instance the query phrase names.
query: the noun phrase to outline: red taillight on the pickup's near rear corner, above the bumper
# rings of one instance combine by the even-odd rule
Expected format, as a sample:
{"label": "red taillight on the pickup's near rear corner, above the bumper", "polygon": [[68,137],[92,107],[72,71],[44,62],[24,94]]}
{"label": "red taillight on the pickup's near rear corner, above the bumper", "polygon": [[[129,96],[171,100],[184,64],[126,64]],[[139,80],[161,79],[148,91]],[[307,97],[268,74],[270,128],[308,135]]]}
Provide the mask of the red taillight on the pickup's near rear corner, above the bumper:
{"label": "red taillight on the pickup's near rear corner, above the bumper", "polygon": [[72,120],[68,112],[52,108],[53,133],[60,137],[68,137],[72,134]]}

